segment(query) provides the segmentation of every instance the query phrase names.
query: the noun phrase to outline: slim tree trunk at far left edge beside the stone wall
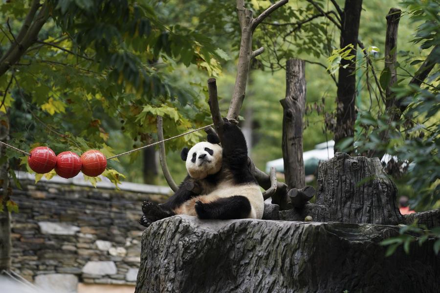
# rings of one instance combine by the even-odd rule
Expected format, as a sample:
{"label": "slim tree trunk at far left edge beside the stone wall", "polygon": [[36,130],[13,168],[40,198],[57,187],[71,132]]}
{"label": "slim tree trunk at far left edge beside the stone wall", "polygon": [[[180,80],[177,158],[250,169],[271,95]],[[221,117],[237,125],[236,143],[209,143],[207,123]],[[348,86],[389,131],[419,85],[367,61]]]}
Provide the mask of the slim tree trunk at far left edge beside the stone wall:
{"label": "slim tree trunk at far left edge beside the stone wall", "polygon": [[[7,114],[0,112],[0,140],[7,142],[9,136],[9,121]],[[0,145],[0,158],[5,157],[6,147]],[[6,207],[6,201],[9,199],[9,177],[8,161],[0,165],[0,205],[3,211],[0,212],[0,272],[11,268],[11,214]]]}

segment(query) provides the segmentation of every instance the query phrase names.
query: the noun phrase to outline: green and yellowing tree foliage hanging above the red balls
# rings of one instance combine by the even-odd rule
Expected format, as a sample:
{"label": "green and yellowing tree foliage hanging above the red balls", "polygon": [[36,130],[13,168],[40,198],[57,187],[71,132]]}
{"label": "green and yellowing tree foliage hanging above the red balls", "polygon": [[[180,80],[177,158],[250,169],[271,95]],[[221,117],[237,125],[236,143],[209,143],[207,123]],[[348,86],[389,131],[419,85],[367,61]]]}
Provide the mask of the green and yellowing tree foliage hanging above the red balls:
{"label": "green and yellowing tree foliage hanging above the red balls", "polygon": [[[169,136],[209,121],[204,88],[179,82],[173,72],[178,64],[195,65],[216,76],[226,54],[195,29],[162,23],[148,1],[8,1],[0,11],[0,66],[8,65],[0,110],[9,113],[12,145],[79,154],[96,148],[110,156],[111,129],[145,144],[156,115],[165,117]],[[32,28],[40,14],[44,25],[32,35],[26,17]],[[22,42],[31,44],[9,64],[11,48]],[[121,174],[110,168],[105,175],[116,183]]]}

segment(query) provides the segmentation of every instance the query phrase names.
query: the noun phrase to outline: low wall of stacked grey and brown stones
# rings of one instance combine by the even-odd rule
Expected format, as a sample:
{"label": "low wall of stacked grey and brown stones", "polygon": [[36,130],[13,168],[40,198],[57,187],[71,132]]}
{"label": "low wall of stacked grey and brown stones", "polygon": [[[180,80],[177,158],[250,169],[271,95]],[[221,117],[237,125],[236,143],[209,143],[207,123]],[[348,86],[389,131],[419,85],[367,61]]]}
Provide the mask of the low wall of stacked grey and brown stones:
{"label": "low wall of stacked grey and brown stones", "polygon": [[169,189],[93,188],[62,178],[35,184],[28,177],[22,190],[13,190],[20,208],[12,214],[13,270],[36,284],[134,285],[144,230],[137,223],[141,203],[162,202]]}

